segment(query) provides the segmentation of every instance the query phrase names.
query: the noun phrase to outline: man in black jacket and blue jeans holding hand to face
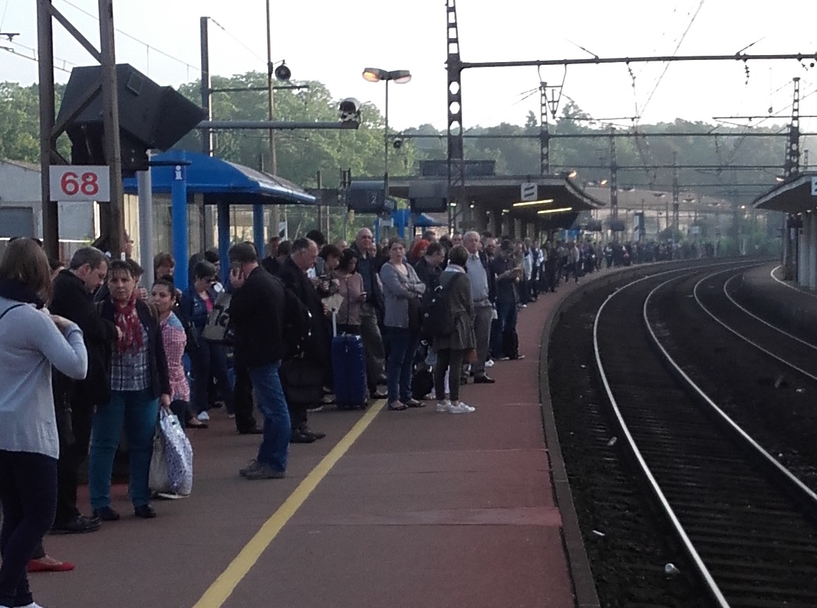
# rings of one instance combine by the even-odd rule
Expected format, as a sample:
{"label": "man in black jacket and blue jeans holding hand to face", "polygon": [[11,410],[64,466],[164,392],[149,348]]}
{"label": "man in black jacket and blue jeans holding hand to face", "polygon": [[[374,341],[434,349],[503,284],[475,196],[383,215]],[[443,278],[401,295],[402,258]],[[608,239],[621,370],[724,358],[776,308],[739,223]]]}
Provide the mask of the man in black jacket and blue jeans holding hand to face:
{"label": "man in black jacket and blue jeans holding hand to face", "polygon": [[230,257],[230,320],[236,361],[249,370],[264,436],[258,454],[239,471],[246,479],[280,479],[287,470],[289,411],[279,377],[283,357],[283,284],[258,266],[255,248],[235,244]]}

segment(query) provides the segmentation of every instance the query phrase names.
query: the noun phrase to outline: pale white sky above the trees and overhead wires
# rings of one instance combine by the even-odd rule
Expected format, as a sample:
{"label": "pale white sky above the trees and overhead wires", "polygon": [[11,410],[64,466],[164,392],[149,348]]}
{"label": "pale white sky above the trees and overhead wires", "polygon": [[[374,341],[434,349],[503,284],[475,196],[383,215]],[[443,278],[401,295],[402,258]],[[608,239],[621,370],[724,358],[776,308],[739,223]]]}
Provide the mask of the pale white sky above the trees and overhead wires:
{"label": "pale white sky above the trees and overhead wires", "polygon": [[[389,89],[391,127],[431,123],[446,127],[445,0],[270,0],[274,60],[286,60],[292,78],[319,80],[333,96],[371,101],[381,110],[385,88],[361,78],[366,67],[409,69],[410,83]],[[53,0],[54,6],[98,42],[96,0]],[[789,54],[817,51],[817,2],[795,0],[782,11],[734,0],[458,0],[463,61],[561,60],[600,57]],[[265,0],[114,0],[117,61],[162,85],[199,78],[199,17],[209,16],[211,72],[223,76],[266,69]],[[792,17],[793,16],[793,19]],[[0,0],[0,82],[37,80],[36,0]],[[57,65],[93,60],[55,24]],[[580,47],[584,47],[587,51]],[[589,51],[589,53],[588,53]],[[807,63],[806,63],[807,65]],[[801,78],[802,115],[817,114],[817,67],[796,60],[685,61],[578,65],[541,69],[467,69],[462,75],[463,126],[525,123],[539,113],[540,80],[562,85],[561,104],[574,100],[602,123],[623,127],[675,118],[714,123],[713,117],[777,118],[751,123],[783,125],[791,115],[792,78]],[[56,71],[56,79],[68,75]],[[634,78],[633,78],[634,77]],[[214,117],[219,118],[219,117]],[[817,131],[817,119],[801,119]]]}

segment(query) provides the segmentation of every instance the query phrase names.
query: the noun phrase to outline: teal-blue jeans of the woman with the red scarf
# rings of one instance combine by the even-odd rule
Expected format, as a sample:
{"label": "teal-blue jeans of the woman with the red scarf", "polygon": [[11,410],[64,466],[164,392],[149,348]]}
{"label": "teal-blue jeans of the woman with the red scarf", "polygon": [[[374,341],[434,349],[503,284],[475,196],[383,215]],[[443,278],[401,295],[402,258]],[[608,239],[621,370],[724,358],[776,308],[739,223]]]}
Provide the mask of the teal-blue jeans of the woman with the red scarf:
{"label": "teal-blue jeans of the woman with the red scarf", "polygon": [[131,503],[134,507],[150,503],[148,472],[157,420],[158,399],[151,396],[149,388],[111,391],[110,401],[96,408],[88,454],[88,493],[95,511],[110,507],[110,476],[123,422],[131,464]]}

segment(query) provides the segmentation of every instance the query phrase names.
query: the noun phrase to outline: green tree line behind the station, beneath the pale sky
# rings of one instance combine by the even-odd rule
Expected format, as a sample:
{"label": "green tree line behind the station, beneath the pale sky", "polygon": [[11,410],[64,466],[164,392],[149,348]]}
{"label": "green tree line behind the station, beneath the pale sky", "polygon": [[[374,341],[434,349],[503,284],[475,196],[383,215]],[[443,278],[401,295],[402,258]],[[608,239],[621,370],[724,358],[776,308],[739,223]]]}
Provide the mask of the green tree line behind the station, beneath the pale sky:
{"label": "green tree line behind the station, beneath the pale sky", "polygon": [[[214,92],[212,114],[219,120],[266,120],[266,74],[248,72],[230,78],[214,77],[214,89],[246,89],[239,92]],[[275,92],[275,120],[333,121],[337,119],[337,99],[324,84],[310,81],[297,83],[301,88]],[[65,85],[56,86],[57,105]],[[200,102],[199,82],[187,83],[179,91]],[[0,158],[37,163],[38,87],[19,83],[0,83]],[[357,130],[344,131],[280,131],[276,132],[278,174],[305,187],[316,186],[316,173],[323,172],[324,186],[334,186],[342,168],[350,169],[353,177],[376,176],[383,172],[384,120],[377,107],[364,104],[363,122]],[[630,137],[618,137],[616,163],[635,169],[618,172],[620,187],[650,187],[667,190],[672,184],[673,153],[677,163],[705,166],[679,170],[681,187],[694,190],[694,185],[723,186],[728,192],[736,184],[772,186],[782,171],[785,137],[743,137],[744,127],[724,127],[676,118],[672,123],[618,125],[618,132]],[[754,133],[784,132],[784,124],[753,127]],[[467,159],[492,159],[497,172],[509,175],[539,174],[538,117],[529,114],[525,125],[500,123],[493,127],[473,127],[467,130]],[[579,169],[577,183],[599,182],[609,178],[609,125],[596,123],[574,101],[568,100],[560,115],[552,119],[549,132],[551,170]],[[702,136],[645,137],[645,133],[700,133]],[[568,138],[565,135],[596,135]],[[708,134],[708,135],[707,135]],[[403,140],[399,149],[390,147],[390,168],[393,175],[417,173],[417,163],[424,159],[445,159],[446,139],[430,124],[395,133]],[[424,136],[424,137],[417,137]],[[488,137],[489,136],[489,137]],[[507,137],[515,136],[515,137]],[[65,136],[58,141],[67,157],[69,143]],[[201,133],[190,132],[176,146],[201,150]],[[270,169],[269,144],[266,132],[252,130],[218,131],[215,134],[216,154],[225,160],[252,168]],[[770,165],[768,169],[735,171],[730,165]],[[708,194],[710,190],[702,190]],[[721,198],[728,198],[721,194]]]}

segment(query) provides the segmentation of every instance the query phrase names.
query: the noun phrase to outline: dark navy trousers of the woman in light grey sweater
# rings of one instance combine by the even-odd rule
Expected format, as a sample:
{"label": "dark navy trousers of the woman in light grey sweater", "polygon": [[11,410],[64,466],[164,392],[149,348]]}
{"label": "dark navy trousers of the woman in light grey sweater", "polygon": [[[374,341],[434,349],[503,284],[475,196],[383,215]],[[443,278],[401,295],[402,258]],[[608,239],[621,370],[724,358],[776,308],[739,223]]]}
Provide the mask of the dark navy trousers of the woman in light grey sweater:
{"label": "dark navy trousers of the woman in light grey sweater", "polygon": [[0,605],[33,602],[26,566],[56,512],[56,458],[0,449]]}

